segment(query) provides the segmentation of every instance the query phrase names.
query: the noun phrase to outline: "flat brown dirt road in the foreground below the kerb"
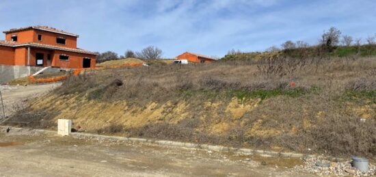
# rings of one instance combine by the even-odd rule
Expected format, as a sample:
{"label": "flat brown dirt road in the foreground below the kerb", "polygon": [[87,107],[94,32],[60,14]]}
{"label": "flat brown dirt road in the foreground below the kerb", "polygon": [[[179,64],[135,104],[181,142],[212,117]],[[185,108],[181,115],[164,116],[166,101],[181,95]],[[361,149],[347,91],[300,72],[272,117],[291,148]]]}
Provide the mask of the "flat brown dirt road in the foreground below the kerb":
{"label": "flat brown dirt road in the foreground below the kerb", "polygon": [[13,130],[0,134],[0,176],[307,176],[291,171],[294,159],[285,167],[256,159]]}

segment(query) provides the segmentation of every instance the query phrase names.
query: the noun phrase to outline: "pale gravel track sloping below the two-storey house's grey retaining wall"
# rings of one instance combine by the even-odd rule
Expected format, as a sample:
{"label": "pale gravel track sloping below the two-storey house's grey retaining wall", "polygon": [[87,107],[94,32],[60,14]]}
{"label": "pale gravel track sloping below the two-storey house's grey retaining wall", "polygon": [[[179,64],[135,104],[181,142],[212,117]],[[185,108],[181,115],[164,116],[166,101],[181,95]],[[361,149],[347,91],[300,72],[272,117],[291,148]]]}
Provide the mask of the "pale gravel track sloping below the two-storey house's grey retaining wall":
{"label": "pale gravel track sloping below the two-storey house's grey retaining wall", "polygon": [[[16,107],[21,107],[27,99],[33,99],[42,94],[46,94],[58,87],[61,83],[49,83],[43,85],[0,85],[5,105],[5,115],[11,115]],[[2,111],[0,107],[1,115]],[[1,118],[1,116],[0,116]]]}

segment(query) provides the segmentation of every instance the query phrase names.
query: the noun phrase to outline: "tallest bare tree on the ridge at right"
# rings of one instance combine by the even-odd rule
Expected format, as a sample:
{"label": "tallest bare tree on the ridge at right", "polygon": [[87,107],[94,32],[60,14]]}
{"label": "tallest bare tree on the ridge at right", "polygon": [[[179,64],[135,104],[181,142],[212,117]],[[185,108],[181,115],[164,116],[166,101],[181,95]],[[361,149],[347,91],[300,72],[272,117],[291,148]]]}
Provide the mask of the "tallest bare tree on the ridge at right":
{"label": "tallest bare tree on the ridge at right", "polygon": [[331,27],[329,30],[324,31],[321,36],[321,46],[323,46],[325,51],[332,52],[334,47],[338,46],[340,34],[340,30],[336,29],[336,27]]}

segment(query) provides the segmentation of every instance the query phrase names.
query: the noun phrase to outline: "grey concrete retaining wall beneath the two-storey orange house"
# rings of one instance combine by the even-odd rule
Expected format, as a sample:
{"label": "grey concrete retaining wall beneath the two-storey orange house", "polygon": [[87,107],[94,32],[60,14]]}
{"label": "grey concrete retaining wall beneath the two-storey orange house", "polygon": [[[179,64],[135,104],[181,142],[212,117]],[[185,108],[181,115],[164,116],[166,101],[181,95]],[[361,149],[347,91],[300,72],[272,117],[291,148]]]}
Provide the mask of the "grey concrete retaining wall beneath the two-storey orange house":
{"label": "grey concrete retaining wall beneath the two-storey orange house", "polygon": [[[42,67],[0,65],[0,83],[7,83],[13,79],[27,77],[41,69]],[[44,73],[46,72],[60,72],[60,68],[49,68],[44,71]]]}

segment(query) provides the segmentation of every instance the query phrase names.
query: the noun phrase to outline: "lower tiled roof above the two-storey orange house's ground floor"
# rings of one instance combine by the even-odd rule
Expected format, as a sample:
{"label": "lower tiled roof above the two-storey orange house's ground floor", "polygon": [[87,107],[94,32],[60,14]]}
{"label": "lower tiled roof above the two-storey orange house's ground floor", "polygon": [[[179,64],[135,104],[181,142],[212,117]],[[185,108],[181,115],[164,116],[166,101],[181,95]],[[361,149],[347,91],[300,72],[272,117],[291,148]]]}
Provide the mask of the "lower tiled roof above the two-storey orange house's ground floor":
{"label": "lower tiled roof above the two-storey orange house's ground floor", "polygon": [[90,55],[96,55],[96,53],[94,53],[94,52],[86,51],[86,50],[83,50],[83,49],[68,48],[68,47],[64,47],[64,46],[53,46],[53,45],[49,45],[49,44],[40,44],[40,43],[36,43],[36,42],[18,44],[17,42],[13,42],[13,41],[0,40],[0,45],[1,46],[12,46],[12,47],[33,46],[33,47],[38,47],[38,48],[42,48],[42,49],[52,49],[52,50],[58,50],[58,51],[68,51],[68,52],[76,52],[76,53],[85,53],[85,54],[90,54]]}

